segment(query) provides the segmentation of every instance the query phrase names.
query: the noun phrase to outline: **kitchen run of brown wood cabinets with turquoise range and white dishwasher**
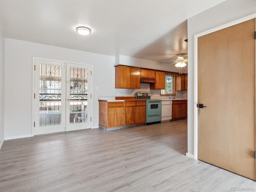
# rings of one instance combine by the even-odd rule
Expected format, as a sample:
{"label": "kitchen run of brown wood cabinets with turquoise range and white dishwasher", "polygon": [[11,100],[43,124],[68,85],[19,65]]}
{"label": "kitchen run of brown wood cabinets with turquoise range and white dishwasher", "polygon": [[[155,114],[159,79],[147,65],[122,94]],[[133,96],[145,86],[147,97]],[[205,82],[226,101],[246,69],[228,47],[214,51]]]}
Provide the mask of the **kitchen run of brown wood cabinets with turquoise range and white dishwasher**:
{"label": "kitchen run of brown wood cabinets with turquoise range and white dishwasher", "polygon": [[[140,91],[135,96],[120,96],[118,93],[116,97],[99,97],[99,127],[103,130],[187,117],[187,74],[116,65],[115,77],[115,88]],[[167,78],[171,79],[169,83]],[[171,92],[167,92],[167,84],[170,84]]]}

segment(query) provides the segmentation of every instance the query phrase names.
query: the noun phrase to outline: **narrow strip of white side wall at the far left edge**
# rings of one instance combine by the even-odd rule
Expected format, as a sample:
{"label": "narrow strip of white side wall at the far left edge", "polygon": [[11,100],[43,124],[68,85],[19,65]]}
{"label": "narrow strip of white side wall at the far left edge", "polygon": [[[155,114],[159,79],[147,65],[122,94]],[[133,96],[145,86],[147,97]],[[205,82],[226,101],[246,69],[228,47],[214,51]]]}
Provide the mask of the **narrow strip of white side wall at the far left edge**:
{"label": "narrow strip of white side wall at the far left edge", "polygon": [[0,25],[0,149],[4,142],[4,34]]}

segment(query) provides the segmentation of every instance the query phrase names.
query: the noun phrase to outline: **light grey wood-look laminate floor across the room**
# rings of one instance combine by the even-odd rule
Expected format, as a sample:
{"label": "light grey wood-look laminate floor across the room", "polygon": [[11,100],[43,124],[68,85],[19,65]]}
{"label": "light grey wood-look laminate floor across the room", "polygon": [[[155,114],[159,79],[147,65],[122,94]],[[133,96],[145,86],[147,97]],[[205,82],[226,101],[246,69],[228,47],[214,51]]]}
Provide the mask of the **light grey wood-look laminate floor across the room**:
{"label": "light grey wood-look laminate floor across the room", "polygon": [[256,182],[186,152],[186,120],[6,140],[0,192],[256,191]]}

